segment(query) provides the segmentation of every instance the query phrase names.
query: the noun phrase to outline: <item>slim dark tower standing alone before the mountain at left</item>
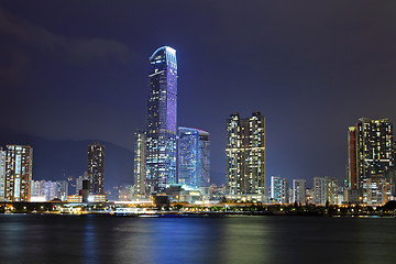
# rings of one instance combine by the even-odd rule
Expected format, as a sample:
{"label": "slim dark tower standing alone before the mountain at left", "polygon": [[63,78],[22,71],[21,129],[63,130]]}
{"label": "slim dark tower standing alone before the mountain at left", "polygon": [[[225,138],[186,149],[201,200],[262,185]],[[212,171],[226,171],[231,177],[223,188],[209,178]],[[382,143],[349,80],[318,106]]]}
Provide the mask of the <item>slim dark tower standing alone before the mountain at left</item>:
{"label": "slim dark tower standing alone before the mountain at left", "polygon": [[89,194],[105,194],[105,145],[95,142],[88,145]]}

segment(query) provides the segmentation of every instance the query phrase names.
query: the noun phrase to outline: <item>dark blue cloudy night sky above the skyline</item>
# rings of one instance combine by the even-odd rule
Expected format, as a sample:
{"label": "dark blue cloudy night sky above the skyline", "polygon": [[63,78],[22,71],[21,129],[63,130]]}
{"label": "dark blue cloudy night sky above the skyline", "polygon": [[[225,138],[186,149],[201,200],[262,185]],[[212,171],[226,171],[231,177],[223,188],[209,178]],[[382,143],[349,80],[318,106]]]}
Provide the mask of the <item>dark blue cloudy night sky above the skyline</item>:
{"label": "dark blue cloudy night sky above the skyline", "polygon": [[100,141],[117,148],[107,188],[131,182],[148,57],[168,45],[177,123],[211,133],[213,183],[226,182],[226,119],[255,110],[266,118],[267,185],[344,179],[348,127],[396,120],[395,12],[396,1],[364,0],[2,0],[0,143],[32,144],[33,179],[61,179],[81,175],[87,144]]}

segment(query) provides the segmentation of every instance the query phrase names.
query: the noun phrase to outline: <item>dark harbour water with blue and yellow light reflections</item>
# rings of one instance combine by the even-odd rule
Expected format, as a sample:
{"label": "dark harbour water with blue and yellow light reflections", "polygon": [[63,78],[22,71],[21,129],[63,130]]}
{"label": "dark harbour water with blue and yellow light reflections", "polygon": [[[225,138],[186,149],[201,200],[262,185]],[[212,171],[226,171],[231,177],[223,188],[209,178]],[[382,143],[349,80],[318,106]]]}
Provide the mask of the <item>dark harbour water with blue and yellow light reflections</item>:
{"label": "dark harbour water with blue and yellow light reflections", "polygon": [[0,263],[396,263],[396,219],[1,215]]}

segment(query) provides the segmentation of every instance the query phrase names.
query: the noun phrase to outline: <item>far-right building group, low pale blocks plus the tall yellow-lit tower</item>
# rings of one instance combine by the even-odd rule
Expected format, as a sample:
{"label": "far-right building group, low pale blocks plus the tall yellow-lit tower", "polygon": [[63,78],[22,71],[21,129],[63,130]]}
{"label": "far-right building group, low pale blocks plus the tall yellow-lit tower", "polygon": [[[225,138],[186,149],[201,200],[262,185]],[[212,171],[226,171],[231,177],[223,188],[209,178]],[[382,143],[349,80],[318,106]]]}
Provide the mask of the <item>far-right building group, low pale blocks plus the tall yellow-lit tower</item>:
{"label": "far-right building group, low pale blocks plus the tall yellow-lit tower", "polygon": [[315,177],[312,188],[305,179],[271,178],[271,200],[276,204],[382,206],[396,198],[393,124],[387,119],[362,118],[348,131],[348,177]]}

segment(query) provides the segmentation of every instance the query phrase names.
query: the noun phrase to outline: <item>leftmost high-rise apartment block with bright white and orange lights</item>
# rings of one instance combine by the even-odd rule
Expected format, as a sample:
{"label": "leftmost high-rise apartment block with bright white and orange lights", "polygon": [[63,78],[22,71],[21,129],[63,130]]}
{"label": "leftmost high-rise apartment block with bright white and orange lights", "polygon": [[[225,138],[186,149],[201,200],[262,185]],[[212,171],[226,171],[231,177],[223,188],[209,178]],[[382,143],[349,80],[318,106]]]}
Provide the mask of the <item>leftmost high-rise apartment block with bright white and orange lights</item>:
{"label": "leftmost high-rise apartment block with bright white and orange lights", "polygon": [[33,148],[29,145],[6,147],[7,201],[29,201],[31,197]]}

